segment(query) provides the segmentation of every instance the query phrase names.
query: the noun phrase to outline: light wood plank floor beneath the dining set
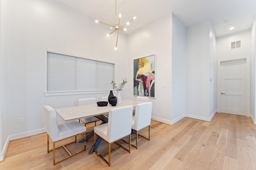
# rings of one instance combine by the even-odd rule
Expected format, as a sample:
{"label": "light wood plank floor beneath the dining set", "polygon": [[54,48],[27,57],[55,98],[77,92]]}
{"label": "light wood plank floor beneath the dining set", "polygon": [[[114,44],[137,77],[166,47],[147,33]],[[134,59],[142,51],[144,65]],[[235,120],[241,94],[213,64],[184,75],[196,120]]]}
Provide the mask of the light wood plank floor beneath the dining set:
{"label": "light wood plank floor beneath the dining set", "polygon": [[[256,170],[256,125],[249,117],[216,113],[211,122],[184,118],[172,126],[151,121],[150,134],[150,141],[139,138],[138,150],[132,147],[130,154],[114,151],[110,167],[95,153],[88,154],[93,138],[85,152],[53,166],[46,133],[38,134],[11,141],[0,169]],[[105,147],[101,142],[99,150]],[[57,158],[64,154],[57,152]]]}

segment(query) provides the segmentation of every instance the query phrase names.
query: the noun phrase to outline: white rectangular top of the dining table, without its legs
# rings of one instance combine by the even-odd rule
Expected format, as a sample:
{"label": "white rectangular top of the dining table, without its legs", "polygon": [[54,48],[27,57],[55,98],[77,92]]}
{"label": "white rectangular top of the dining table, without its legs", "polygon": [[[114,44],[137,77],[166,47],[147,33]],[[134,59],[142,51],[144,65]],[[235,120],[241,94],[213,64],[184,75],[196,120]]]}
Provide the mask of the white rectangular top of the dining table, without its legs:
{"label": "white rectangular top of the dining table, without its legs", "polygon": [[107,106],[99,107],[97,103],[91,105],[82,105],[74,107],[65,107],[60,109],[55,109],[55,111],[65,120],[72,121],[84,117],[92,117],[97,115],[102,115],[108,113],[110,109],[132,105],[136,107],[139,103],[145,103],[144,101],[137,100],[122,100],[120,105],[111,106],[109,103]]}

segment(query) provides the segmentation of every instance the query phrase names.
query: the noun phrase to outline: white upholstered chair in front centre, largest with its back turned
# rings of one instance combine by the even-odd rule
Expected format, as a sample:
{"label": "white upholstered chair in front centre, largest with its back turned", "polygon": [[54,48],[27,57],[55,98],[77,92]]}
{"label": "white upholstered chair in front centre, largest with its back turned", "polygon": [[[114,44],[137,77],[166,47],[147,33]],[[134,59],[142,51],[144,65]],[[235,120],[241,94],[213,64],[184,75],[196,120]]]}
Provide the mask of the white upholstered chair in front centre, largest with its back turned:
{"label": "white upholstered chair in front centre, largest with its back turned", "polygon": [[[108,123],[94,127],[94,151],[96,154],[98,154],[98,156],[100,156],[100,158],[102,158],[102,160],[104,160],[104,162],[106,162],[106,164],[108,164],[108,166],[110,166],[110,145],[112,143],[116,142],[116,144],[118,144],[118,140],[129,136],[129,150],[120,144],[118,144],[118,148],[122,147],[130,153],[132,108],[132,106],[124,106],[110,109],[108,115]],[[108,143],[108,153],[106,153],[108,154],[108,161],[103,157],[106,154],[101,155],[95,148],[96,136],[102,138],[102,140]],[[113,150],[115,149],[116,148]]]}

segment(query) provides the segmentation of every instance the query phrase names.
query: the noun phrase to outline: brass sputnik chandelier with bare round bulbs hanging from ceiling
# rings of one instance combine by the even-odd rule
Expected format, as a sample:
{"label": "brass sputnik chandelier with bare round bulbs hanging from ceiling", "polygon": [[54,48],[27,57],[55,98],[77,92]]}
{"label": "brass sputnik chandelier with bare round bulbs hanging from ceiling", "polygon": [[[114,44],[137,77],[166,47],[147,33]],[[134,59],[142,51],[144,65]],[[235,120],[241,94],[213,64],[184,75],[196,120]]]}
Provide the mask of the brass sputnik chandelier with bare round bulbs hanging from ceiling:
{"label": "brass sputnik chandelier with bare round bulbs hanging from ceiling", "polygon": [[101,24],[105,24],[107,26],[110,26],[110,29],[114,29],[112,32],[110,32],[109,34],[107,34],[107,36],[109,36],[110,34],[112,34],[113,32],[117,31],[117,36],[116,36],[116,47],[115,47],[115,50],[117,50],[117,40],[118,40],[118,33],[119,33],[119,30],[120,31],[126,31],[127,29],[124,28],[125,25],[130,25],[130,22],[132,20],[135,20],[136,19],[136,16],[134,16],[131,20],[127,21],[126,23],[124,23],[123,25],[120,26],[120,18],[122,17],[121,14],[119,14],[119,20],[118,20],[118,24],[116,23],[116,16],[115,16],[115,24],[114,25],[111,25],[111,24],[106,24],[104,22],[99,22],[98,20],[96,20],[95,22],[96,23],[101,23]]}

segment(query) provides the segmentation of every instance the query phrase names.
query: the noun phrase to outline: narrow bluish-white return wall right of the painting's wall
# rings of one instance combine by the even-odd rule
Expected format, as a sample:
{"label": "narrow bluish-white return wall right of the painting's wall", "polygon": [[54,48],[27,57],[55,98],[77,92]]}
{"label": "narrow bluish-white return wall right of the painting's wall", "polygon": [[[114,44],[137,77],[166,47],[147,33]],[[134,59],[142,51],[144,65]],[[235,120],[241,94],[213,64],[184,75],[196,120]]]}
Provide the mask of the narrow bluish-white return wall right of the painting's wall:
{"label": "narrow bluish-white return wall right of the painting's wall", "polygon": [[172,124],[185,117],[185,28],[172,14]]}

